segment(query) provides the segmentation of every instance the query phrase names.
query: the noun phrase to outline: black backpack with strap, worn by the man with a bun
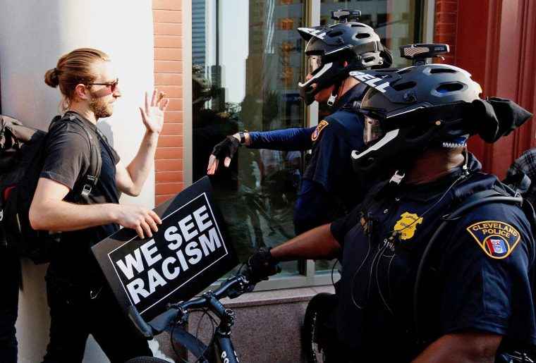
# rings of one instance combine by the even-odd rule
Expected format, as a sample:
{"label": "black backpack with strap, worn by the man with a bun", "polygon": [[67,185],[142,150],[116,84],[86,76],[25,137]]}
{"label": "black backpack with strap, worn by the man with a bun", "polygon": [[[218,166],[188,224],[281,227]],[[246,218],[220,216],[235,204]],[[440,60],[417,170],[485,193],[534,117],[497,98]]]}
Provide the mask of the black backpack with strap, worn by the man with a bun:
{"label": "black backpack with strap, worn by the man with a bun", "polygon": [[[73,114],[56,116],[49,131],[62,123],[74,123],[84,130],[90,142],[90,167],[84,180],[76,183],[75,203],[87,204],[101,168],[98,142]],[[35,264],[49,262],[51,250],[59,241],[59,232],[34,230],[28,211],[44,164],[48,133],[15,118],[0,115],[0,243],[13,248]]]}

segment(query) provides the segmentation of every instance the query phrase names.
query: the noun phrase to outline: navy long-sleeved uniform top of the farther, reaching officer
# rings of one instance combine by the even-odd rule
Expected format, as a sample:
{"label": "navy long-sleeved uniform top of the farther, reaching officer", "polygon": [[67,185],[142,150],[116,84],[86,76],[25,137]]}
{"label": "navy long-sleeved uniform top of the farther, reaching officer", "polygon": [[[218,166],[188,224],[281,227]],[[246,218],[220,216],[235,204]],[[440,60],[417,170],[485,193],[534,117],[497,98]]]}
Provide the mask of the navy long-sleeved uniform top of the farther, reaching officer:
{"label": "navy long-sleeved uniform top of the farther, reaching officer", "polygon": [[255,149],[312,149],[294,209],[296,234],[343,216],[363,197],[361,183],[351,170],[351,153],[363,148],[364,121],[360,114],[343,108],[360,101],[366,88],[359,83],[348,90],[316,128],[250,133],[250,147]]}

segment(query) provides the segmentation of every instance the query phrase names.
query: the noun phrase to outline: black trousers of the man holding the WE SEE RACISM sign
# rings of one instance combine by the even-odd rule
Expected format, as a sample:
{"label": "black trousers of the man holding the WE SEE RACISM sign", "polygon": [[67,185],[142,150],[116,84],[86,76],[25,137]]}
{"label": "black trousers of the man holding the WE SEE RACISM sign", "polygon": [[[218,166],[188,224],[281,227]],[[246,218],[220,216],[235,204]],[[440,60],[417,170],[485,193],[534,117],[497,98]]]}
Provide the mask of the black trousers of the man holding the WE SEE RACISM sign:
{"label": "black trousers of the man holding the WE SEE RACISM sign", "polygon": [[[90,291],[93,291],[90,297]],[[147,340],[135,334],[108,285],[89,288],[59,283],[47,273],[50,343],[45,363],[82,362],[90,334],[111,363],[152,356]]]}

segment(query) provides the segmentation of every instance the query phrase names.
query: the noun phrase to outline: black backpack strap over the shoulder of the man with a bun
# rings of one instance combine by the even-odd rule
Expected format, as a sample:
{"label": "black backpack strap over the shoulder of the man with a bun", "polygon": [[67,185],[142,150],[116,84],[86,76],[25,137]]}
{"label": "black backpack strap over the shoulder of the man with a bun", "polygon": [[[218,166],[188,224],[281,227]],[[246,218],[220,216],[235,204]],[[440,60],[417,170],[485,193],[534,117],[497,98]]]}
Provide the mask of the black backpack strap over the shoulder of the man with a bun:
{"label": "black backpack strap over the shoulder of the man with a bun", "polygon": [[80,188],[80,192],[73,190],[75,202],[77,204],[87,204],[87,198],[90,196],[92,188],[97,185],[97,181],[99,180],[100,176],[102,164],[100,148],[98,141],[95,141],[90,132],[85,128],[84,124],[71,113],[66,113],[63,116],[56,116],[49,126],[49,132],[57,125],[68,122],[74,123],[84,130],[87,140],[90,142],[90,166],[87,168],[87,173],[84,176],[84,181],[82,187]]}

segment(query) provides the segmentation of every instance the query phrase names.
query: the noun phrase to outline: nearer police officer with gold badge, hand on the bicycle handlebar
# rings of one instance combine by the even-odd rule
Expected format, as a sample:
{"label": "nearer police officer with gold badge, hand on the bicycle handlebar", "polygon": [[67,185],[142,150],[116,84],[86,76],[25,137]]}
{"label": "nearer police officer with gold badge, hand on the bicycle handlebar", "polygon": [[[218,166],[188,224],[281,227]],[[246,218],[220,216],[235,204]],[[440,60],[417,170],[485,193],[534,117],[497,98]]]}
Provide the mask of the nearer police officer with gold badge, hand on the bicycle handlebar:
{"label": "nearer police officer with gold badge, hand on the bicycle handlebar", "polygon": [[[443,216],[477,192],[507,194],[463,152],[465,139],[495,142],[532,115],[506,99],[483,101],[480,86],[453,66],[353,74],[376,87],[361,106],[369,148],[353,153],[355,172],[392,178],[348,216],[257,252],[240,271],[255,283],[279,261],[342,254],[337,336],[344,357],[337,362],[506,362],[506,350],[532,349],[536,246],[516,204],[480,204],[450,222],[427,254],[437,256],[427,260],[427,283],[414,294]],[[425,324],[415,324],[416,303]]]}

